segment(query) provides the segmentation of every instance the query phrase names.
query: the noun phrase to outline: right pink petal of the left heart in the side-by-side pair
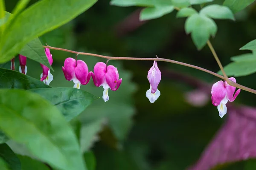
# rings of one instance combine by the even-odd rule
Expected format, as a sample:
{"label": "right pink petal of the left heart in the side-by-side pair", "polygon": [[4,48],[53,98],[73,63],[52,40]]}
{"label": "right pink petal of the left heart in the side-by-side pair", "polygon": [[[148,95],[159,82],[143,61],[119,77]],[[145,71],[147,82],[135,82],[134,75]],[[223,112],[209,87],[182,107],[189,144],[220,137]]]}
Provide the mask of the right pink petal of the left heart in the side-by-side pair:
{"label": "right pink petal of the left heart in the side-by-side pair", "polygon": [[[76,79],[78,79],[82,85],[85,85],[86,80],[87,80],[87,75],[88,75],[88,67],[84,61],[77,60],[76,68],[75,68],[75,75],[76,75]],[[90,78],[89,78],[89,81],[90,81]]]}

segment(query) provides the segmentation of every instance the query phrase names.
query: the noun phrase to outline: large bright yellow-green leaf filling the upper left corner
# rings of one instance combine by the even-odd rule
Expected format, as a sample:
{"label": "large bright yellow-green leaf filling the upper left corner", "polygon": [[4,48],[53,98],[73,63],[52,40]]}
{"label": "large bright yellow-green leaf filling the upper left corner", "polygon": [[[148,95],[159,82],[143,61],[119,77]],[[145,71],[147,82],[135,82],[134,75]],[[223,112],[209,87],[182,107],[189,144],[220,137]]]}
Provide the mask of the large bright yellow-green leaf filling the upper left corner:
{"label": "large bright yellow-green leaf filling the upper left corner", "polygon": [[[28,42],[90,8],[97,0],[41,0],[23,11],[8,28],[0,45],[0,62],[6,62]],[[61,8],[59,8],[61,4]],[[29,22],[28,22],[29,18]]]}

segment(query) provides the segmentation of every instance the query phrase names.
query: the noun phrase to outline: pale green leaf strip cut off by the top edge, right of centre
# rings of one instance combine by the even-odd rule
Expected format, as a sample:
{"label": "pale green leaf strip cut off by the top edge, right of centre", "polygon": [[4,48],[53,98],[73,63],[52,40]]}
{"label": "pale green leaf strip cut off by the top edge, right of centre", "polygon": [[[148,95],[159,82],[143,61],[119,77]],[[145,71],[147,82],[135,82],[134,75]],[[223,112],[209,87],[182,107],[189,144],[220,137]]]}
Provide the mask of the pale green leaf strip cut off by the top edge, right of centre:
{"label": "pale green leaf strip cut off by the top edge, right of centre", "polygon": [[111,0],[115,6],[170,6],[171,0]]}

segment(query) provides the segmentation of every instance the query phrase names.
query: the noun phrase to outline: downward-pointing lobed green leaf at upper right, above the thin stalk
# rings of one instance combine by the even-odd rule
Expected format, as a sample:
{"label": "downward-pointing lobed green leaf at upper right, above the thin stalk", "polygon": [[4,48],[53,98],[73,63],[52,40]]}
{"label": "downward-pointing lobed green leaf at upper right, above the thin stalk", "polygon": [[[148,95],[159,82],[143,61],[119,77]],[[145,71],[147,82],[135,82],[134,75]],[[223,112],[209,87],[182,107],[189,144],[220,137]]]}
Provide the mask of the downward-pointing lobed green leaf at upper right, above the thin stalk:
{"label": "downward-pointing lobed green leaf at upper right, above the thin stalk", "polygon": [[210,35],[215,36],[217,26],[212,19],[201,14],[193,14],[186,20],[185,31],[187,34],[191,33],[193,42],[200,50],[206,45]]}

